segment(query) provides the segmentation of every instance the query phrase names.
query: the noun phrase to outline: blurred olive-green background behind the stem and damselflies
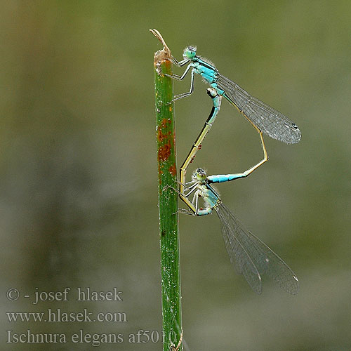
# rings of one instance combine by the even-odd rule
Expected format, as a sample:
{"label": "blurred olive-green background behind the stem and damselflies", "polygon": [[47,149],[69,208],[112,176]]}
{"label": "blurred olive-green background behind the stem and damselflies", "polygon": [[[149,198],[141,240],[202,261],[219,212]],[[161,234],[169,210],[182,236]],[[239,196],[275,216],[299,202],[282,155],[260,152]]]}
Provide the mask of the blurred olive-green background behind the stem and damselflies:
{"label": "blurred olive-green background behind the stem and damselflies", "polygon": [[[2,1],[1,349],[161,350],[153,54],[199,55],[287,114],[302,140],[265,138],[270,161],[218,186],[223,201],[300,280],[256,296],[234,274],[216,216],[180,217],[185,350],[351,350],[350,1]],[[175,67],[175,72],[183,69]],[[175,82],[176,93],[190,81]],[[178,166],[211,109],[206,85],[176,103]],[[222,110],[194,168],[244,171],[260,140]],[[35,291],[71,287],[67,302]],[[74,289],[123,291],[77,302]],[[16,288],[21,298],[6,299]],[[36,288],[38,288],[36,290]],[[23,298],[23,294],[31,298]],[[9,323],[5,312],[126,312],[127,323]],[[123,333],[124,342],[7,344],[21,333]]]}

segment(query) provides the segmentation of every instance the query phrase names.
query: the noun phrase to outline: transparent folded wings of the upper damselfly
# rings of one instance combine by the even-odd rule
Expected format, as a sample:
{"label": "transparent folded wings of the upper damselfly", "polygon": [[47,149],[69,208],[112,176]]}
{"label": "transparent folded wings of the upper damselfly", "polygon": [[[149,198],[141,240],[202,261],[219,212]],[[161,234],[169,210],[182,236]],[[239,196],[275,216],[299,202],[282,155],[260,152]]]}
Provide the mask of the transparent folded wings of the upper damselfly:
{"label": "transparent folded wings of the upper damselfly", "polygon": [[218,74],[218,88],[225,91],[225,98],[244,114],[260,131],[287,144],[298,143],[301,133],[298,126],[273,107],[254,98],[234,81]]}

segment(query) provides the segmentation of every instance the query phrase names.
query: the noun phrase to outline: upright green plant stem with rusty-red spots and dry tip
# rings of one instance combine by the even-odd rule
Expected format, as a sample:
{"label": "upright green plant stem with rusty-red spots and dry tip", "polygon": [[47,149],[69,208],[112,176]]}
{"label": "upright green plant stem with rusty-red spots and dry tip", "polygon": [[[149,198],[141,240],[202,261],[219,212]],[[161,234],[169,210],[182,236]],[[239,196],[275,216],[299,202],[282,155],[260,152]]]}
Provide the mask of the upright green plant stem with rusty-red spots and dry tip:
{"label": "upright green plant stem with rusty-red spots and dry tip", "polygon": [[[176,133],[174,129],[173,82],[168,60],[171,52],[157,31],[152,33],[164,44],[154,56],[156,95],[157,161],[159,166],[159,232],[161,242],[161,287],[164,351],[178,345],[182,333],[180,308],[180,259],[178,237],[178,194]],[[156,33],[156,34],[155,34]]]}

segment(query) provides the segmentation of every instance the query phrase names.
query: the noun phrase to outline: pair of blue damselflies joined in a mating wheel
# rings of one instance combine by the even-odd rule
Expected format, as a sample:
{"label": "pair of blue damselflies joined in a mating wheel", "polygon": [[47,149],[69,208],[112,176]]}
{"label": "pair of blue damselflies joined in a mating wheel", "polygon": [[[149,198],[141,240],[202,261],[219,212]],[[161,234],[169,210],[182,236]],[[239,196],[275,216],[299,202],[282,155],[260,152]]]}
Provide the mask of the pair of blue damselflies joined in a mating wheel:
{"label": "pair of blue damselflies joined in a mating wheel", "polygon": [[[236,83],[220,74],[211,62],[197,55],[195,47],[188,46],[183,53],[183,60],[178,62],[172,57],[172,62],[179,67],[188,65],[182,75],[173,74],[171,76],[168,75],[168,77],[181,81],[188,72],[191,72],[190,91],[176,95],[174,100],[185,98],[193,92],[194,75],[199,74],[211,86],[211,88],[207,89],[207,93],[213,105],[199,137],[194,142],[190,153],[180,167],[180,189],[177,191],[180,199],[189,208],[188,210],[183,210],[183,212],[194,216],[206,216],[212,211],[218,214],[230,261],[237,272],[244,275],[253,291],[256,291],[256,293],[262,292],[261,275],[267,274],[288,293],[298,293],[296,274],[263,241],[249,232],[249,230],[246,230],[237,217],[223,204],[212,186],[213,183],[224,183],[239,178],[246,178],[268,160],[263,133],[284,143],[298,143],[301,138],[298,126],[284,114],[254,98]],[[258,131],[263,147],[263,159],[243,173],[206,176],[206,172],[202,168],[197,168],[192,174],[192,180],[186,182],[187,168],[213,125],[220,110],[223,97],[231,105],[234,105]],[[191,196],[192,199],[190,200]],[[204,208],[199,204],[200,199],[204,201]]]}

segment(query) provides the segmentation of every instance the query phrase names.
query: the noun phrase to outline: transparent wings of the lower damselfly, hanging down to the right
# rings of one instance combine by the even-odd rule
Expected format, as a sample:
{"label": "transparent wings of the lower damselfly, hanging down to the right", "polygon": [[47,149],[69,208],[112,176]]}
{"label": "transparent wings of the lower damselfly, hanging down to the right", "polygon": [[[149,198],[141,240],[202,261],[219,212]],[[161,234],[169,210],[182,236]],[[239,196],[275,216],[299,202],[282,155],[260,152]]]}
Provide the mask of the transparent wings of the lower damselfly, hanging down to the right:
{"label": "transparent wings of the lower damselfly, hanging down to the right", "polygon": [[241,266],[245,267],[249,263],[243,265],[241,261],[246,262],[249,260],[253,263],[259,277],[260,274],[265,273],[274,279],[283,290],[291,294],[298,293],[298,278],[291,268],[284,263],[282,258],[279,258],[263,241],[246,230],[244,225],[239,222],[237,217],[225,205],[220,203],[216,211],[220,218],[225,246],[227,247],[230,260],[235,261],[234,267],[244,274],[253,290],[260,293],[260,290],[254,288],[253,277],[241,268]]}

